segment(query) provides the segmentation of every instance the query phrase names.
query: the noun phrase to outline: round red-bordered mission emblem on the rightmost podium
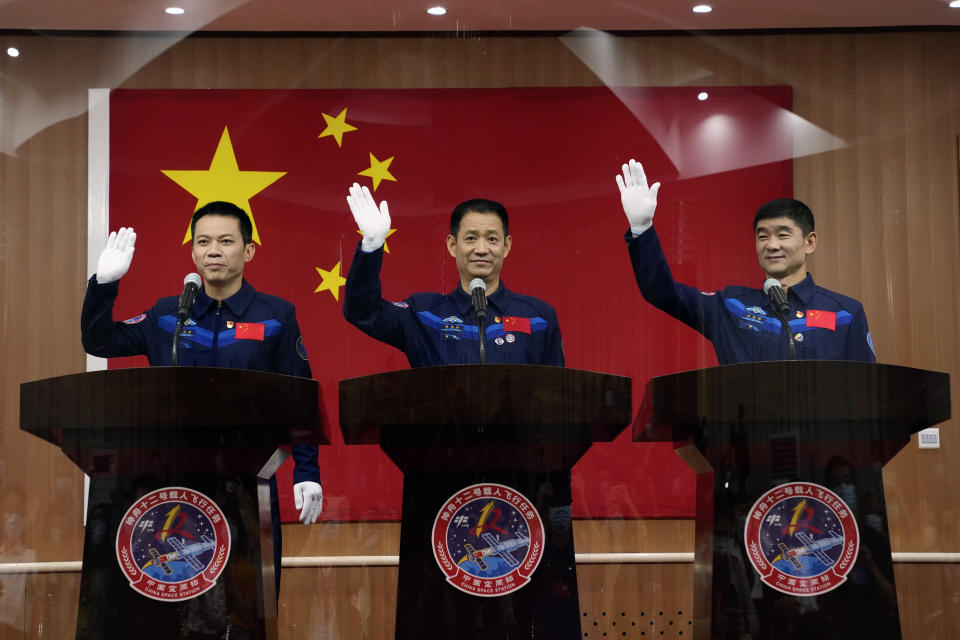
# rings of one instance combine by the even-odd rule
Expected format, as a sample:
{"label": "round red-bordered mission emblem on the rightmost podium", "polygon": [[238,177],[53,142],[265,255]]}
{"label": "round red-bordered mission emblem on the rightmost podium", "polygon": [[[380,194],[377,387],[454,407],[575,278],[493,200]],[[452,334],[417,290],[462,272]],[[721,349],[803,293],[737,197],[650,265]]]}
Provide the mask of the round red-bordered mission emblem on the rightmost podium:
{"label": "round red-bordered mission emblem on the rightmost podium", "polygon": [[812,482],[789,482],[762,495],[747,514],[743,539],[767,586],[795,596],[839,587],[860,548],[850,507]]}

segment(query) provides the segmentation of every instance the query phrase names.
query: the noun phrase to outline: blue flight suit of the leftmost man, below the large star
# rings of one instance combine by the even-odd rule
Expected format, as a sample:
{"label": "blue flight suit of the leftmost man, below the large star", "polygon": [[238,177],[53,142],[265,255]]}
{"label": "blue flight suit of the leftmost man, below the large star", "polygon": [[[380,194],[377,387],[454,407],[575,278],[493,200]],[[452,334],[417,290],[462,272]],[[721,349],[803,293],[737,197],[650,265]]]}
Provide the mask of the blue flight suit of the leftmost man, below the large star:
{"label": "blue flight suit of the leftmost man, below the large star", "polygon": [[[151,366],[170,366],[173,333],[177,327],[178,296],[160,298],[153,308],[123,322],[113,321],[119,283],[87,283],[80,316],[84,350],[101,358],[145,355]],[[262,323],[263,340],[237,339],[238,323]],[[225,367],[283,373],[312,378],[300,326],[292,304],[260,293],[246,280],[235,294],[218,303],[201,286],[190,318],[184,323],[177,360],[187,367]],[[292,447],[294,483],[320,482],[315,445]],[[273,556],[277,593],[280,592],[282,537],[276,480],[271,479]]]}

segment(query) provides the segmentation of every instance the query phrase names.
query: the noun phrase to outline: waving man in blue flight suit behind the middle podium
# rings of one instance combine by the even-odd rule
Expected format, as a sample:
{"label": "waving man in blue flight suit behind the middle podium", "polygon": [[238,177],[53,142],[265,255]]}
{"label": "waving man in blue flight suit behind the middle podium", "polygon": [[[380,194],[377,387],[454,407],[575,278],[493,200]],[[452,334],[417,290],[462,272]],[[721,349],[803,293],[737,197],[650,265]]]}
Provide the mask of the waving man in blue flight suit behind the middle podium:
{"label": "waving man in blue flight suit behind the middle podium", "polygon": [[390,231],[386,201],[378,207],[367,187],[347,197],[363,233],[347,274],[343,315],[367,335],[403,351],[412,367],[478,363],[479,332],[469,285],[486,283],[488,363],[563,366],[557,314],[546,302],[510,291],[500,280],[512,238],[507,211],[492,200],[468,200],[453,210],[447,250],[460,284],[450,293],[416,293],[388,302],[380,293],[383,244]]}

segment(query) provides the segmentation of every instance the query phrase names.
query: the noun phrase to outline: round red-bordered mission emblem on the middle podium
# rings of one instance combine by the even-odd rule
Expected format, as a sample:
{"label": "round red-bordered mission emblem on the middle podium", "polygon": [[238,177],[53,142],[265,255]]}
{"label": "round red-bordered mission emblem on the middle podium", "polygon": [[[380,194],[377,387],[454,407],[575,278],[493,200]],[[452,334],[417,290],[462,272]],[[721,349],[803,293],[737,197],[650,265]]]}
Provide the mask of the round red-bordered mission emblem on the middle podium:
{"label": "round red-bordered mission emblem on the middle podium", "polygon": [[495,597],[528,582],[543,557],[543,521],[516,489],[482,483],[453,494],[433,523],[433,556],[447,582]]}

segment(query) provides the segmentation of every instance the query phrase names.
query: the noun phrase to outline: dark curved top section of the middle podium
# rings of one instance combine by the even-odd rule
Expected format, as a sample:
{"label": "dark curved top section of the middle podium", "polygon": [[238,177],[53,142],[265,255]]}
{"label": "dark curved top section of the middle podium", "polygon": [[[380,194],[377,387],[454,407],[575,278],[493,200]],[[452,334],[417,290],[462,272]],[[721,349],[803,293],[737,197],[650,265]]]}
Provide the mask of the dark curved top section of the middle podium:
{"label": "dark curved top section of the middle podium", "polygon": [[539,365],[445,365],[340,381],[347,444],[381,428],[582,425],[609,441],[630,424],[630,378]]}

